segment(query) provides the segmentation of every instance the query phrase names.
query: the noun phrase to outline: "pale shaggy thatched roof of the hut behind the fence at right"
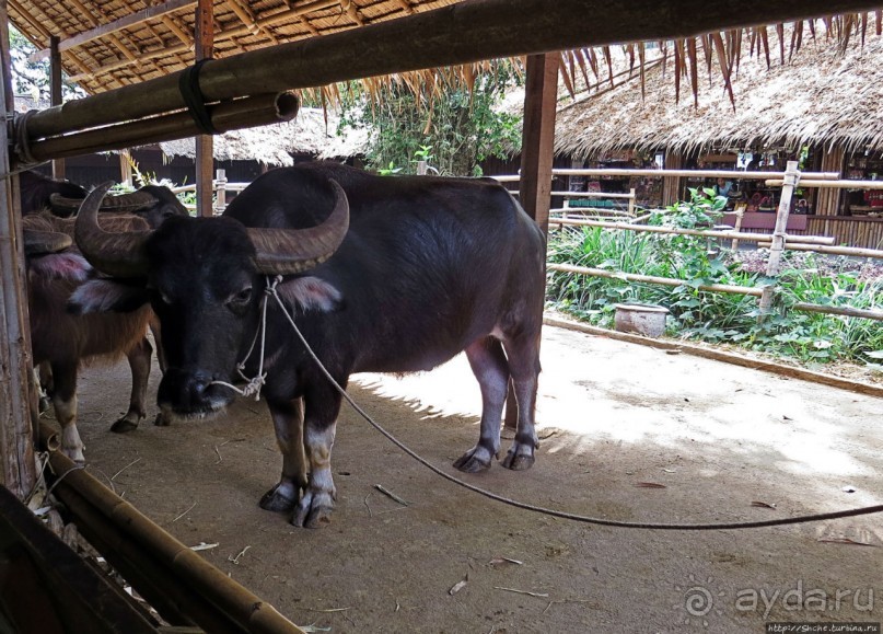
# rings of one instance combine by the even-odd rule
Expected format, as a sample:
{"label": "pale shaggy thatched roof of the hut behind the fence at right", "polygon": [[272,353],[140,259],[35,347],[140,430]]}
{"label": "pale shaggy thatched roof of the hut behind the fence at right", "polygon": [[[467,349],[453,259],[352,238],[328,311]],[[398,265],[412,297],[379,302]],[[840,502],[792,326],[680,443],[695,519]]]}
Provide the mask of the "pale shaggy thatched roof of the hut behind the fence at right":
{"label": "pale shaggy thatched roof of the hut behind the fence at right", "polygon": [[[559,106],[556,152],[574,158],[612,149],[709,149],[840,143],[847,150],[883,148],[883,38],[855,38],[844,51],[824,34],[804,36],[785,62],[770,37],[770,68],[763,55],[743,54],[732,76],[735,104],[719,74],[696,96],[682,79],[675,99],[673,64],[646,71],[646,96],[637,71],[616,88]],[[705,76],[705,79],[704,79]],[[568,100],[571,101],[571,100]]]}

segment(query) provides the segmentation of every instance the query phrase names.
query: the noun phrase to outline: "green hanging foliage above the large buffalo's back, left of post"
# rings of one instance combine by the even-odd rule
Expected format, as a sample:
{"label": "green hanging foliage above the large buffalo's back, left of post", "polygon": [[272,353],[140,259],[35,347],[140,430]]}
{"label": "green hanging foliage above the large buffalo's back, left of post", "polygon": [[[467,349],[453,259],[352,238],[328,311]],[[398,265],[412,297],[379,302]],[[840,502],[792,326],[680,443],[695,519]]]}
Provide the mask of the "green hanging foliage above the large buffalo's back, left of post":
{"label": "green hanging foliage above the large buffalo's back, left of post", "polygon": [[[521,146],[521,119],[495,109],[518,81],[509,61],[497,61],[475,78],[472,90],[427,82],[393,83],[365,99],[356,89],[345,99],[341,124],[368,126],[368,164],[384,173],[415,173],[418,161],[445,175],[480,175],[487,157],[503,158]],[[441,80],[440,80],[441,81]]]}

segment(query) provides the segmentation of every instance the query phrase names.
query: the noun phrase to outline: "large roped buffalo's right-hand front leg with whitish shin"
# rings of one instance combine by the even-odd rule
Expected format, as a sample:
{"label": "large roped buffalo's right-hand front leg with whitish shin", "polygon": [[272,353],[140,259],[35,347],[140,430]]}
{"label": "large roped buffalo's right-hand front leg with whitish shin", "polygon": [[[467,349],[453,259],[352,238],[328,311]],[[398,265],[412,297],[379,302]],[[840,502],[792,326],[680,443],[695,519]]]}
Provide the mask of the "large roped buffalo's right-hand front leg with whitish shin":
{"label": "large roped buffalo's right-hand front leg with whitish shin", "polygon": [[[346,381],[339,381],[346,388]],[[310,479],[291,523],[304,528],[319,528],[330,520],[337,491],[332,477],[332,447],[334,447],[340,394],[322,381],[304,395],[303,445],[310,464]]]}

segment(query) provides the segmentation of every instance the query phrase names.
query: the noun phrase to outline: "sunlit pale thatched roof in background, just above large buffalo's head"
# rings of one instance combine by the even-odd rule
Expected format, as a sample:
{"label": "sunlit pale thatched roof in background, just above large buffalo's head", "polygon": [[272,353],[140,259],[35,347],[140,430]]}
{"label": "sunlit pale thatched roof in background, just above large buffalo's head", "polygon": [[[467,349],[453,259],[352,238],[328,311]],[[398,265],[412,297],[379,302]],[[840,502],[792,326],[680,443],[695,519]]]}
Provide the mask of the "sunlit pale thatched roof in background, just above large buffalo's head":
{"label": "sunlit pale thatched roof in background, just above large buffalo's head", "polygon": [[[327,116],[327,119],[326,119]],[[291,165],[291,154],[339,159],[363,154],[368,130],[345,127],[337,134],[338,118],[332,111],[301,108],[294,120],[233,130],[214,137],[213,154],[220,161],[256,160],[268,165]],[[160,143],[170,157],[196,155],[194,139]]]}

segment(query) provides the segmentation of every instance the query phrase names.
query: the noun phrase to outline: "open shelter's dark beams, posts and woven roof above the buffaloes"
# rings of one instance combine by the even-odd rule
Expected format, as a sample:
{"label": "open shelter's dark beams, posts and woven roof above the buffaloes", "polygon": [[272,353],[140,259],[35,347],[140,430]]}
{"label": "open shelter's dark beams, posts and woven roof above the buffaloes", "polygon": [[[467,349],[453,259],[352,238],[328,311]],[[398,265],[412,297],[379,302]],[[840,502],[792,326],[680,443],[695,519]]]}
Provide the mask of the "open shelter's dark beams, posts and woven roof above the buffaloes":
{"label": "open shelter's dark beams, posts and woven roof above the buffaloes", "polygon": [[[14,169],[290,118],[297,103],[289,90],[322,90],[337,81],[390,73],[420,77],[431,73],[426,69],[452,65],[466,65],[461,76],[468,80],[475,62],[526,55],[521,200],[545,228],[557,51],[875,7],[868,0],[741,0],[736,5],[739,11],[732,3],[699,0],[616,5],[595,0],[167,0],[150,5],[0,0],[0,24],[11,21],[38,46],[51,47],[48,54],[93,94],[14,120],[13,151],[0,154],[2,483],[23,497],[35,476],[35,399],[18,183],[10,178]],[[0,37],[0,45],[5,41]],[[9,113],[13,107],[3,53],[0,102]],[[205,65],[193,64],[210,57]],[[7,135],[0,128],[0,142],[10,146]],[[125,517],[120,521],[128,522]],[[128,543],[117,527],[107,530],[117,543]],[[209,580],[217,585],[217,579]],[[245,613],[245,620],[251,615]]]}

